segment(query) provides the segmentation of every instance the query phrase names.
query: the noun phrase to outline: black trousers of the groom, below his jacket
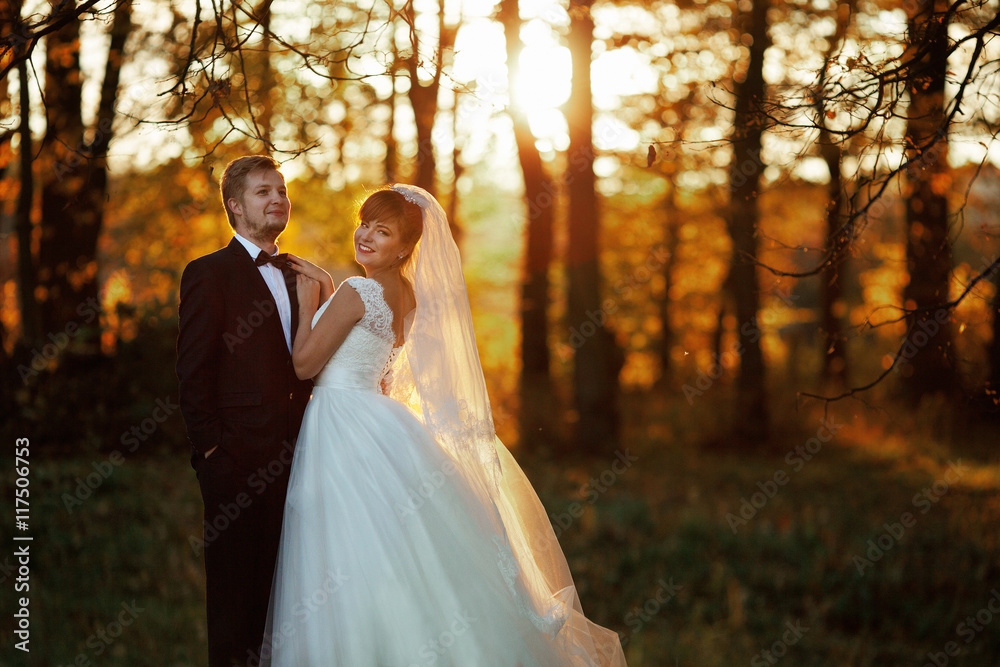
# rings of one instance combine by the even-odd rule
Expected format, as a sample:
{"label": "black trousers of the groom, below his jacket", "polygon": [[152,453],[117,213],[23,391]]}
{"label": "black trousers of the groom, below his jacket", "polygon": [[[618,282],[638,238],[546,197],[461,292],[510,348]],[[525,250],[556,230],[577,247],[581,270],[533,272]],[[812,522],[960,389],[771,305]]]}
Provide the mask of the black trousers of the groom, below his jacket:
{"label": "black trousers of the groom, below his jacket", "polygon": [[220,447],[196,465],[205,502],[209,665],[256,667],[281,538],[290,457],[289,464],[272,462],[261,474],[240,467]]}

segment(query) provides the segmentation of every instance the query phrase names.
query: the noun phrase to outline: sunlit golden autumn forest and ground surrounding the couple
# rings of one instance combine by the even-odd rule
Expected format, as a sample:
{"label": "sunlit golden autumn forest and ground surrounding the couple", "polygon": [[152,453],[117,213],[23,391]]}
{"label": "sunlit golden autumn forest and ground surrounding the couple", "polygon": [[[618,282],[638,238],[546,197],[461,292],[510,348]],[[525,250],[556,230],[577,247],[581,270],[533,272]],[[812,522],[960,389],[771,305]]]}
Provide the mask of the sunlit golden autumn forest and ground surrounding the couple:
{"label": "sunlit golden autumn forest and ground surrounding the couple", "polygon": [[203,663],[177,287],[269,153],[338,280],[369,189],[441,200],[629,664],[996,664],[998,8],[5,3],[0,662]]}

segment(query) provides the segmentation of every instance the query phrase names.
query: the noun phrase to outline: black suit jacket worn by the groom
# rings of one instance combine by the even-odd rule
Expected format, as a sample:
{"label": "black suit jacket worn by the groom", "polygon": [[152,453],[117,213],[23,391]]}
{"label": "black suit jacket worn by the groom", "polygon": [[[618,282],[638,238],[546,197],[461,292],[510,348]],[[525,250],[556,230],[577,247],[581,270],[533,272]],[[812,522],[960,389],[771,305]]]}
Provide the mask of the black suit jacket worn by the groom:
{"label": "black suit jacket worn by the groom", "polygon": [[[291,271],[285,284],[294,340]],[[280,460],[281,449],[294,446],[312,381],[295,376],[274,297],[235,237],[184,269],[179,314],[177,377],[192,462],[215,446],[250,470]]]}

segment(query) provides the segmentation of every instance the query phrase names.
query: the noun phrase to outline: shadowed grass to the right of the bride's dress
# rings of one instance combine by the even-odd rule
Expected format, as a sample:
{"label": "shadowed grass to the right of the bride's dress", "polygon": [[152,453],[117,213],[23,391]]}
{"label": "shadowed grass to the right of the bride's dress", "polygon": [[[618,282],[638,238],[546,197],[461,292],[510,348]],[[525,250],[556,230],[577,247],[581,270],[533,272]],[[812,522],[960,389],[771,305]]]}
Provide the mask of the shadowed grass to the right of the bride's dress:
{"label": "shadowed grass to the right of the bride's dress", "polygon": [[[816,435],[819,412],[786,406],[770,453],[752,454],[718,446],[725,424],[705,426],[718,423],[719,398],[628,401],[625,441],[639,460],[593,518],[560,536],[585,609],[619,630],[630,665],[922,665],[928,653],[1000,663],[1000,615],[987,607],[1000,589],[995,427],[948,423],[934,406],[904,415],[848,404],[805,461],[795,448]],[[529,474],[559,514],[607,466]],[[784,484],[769,486],[779,471]],[[760,507],[745,523],[727,519],[743,499]],[[971,634],[959,624],[977,612]],[[948,642],[957,657],[942,653]]]}

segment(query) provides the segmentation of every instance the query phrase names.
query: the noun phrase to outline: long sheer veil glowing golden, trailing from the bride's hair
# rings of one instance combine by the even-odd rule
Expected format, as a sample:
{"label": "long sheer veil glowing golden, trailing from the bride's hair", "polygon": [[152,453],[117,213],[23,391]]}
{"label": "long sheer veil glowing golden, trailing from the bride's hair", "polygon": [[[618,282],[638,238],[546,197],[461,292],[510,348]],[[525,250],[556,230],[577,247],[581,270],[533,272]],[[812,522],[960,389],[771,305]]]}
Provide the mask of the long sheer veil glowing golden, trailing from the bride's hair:
{"label": "long sheer veil glowing golden, trailing from the bride's hair", "polygon": [[589,621],[555,532],[520,466],[497,438],[472,326],[458,247],[444,210],[427,191],[392,189],[423,211],[423,232],[404,276],[416,310],[386,393],[407,405],[497,512],[484,528],[518,606],[548,634],[568,665],[624,666],[618,634]]}

